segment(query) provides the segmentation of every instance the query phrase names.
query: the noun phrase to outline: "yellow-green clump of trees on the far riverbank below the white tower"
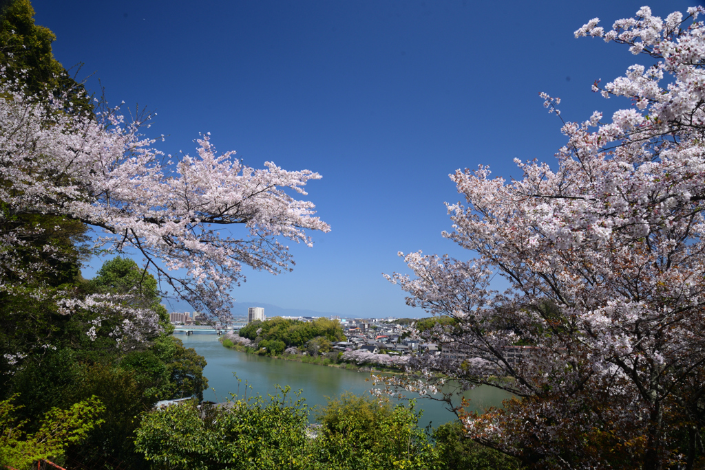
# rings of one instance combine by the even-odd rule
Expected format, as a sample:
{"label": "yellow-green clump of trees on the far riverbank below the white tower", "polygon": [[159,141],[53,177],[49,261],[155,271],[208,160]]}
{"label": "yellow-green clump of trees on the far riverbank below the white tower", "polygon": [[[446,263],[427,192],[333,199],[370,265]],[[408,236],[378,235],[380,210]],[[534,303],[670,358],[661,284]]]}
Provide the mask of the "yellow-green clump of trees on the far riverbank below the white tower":
{"label": "yellow-green clump of trees on the far riverbank below the white tower", "polygon": [[[285,348],[300,347],[319,336],[327,341],[345,341],[343,328],[338,320],[318,318],[313,322],[275,317],[266,322],[252,322],[240,329],[240,336],[252,341],[281,341]],[[262,346],[260,344],[260,346]]]}

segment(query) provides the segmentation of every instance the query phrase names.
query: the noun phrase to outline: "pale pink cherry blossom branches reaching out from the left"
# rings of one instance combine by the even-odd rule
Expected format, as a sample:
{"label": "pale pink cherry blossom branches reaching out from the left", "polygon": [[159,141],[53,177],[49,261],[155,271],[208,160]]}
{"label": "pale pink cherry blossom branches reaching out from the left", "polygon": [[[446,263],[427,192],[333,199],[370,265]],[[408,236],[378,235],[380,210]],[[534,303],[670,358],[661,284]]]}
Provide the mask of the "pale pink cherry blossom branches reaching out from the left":
{"label": "pale pink cherry blossom branches reaching out from the left", "polygon": [[[149,118],[125,123],[117,108],[95,116],[71,113],[71,102],[31,96],[16,80],[1,82],[2,293],[51,296],[63,314],[123,308],[111,296],[76,298],[42,286],[27,293],[27,279],[53,269],[54,263],[39,261],[47,259],[41,252],[53,260],[63,254],[30,243],[48,228],[13,224],[26,215],[93,227],[99,232],[94,250],[136,253],[163,292],[221,320],[230,315],[230,290],[244,279],[243,265],[273,274],[288,270],[293,260],[278,239],[312,246],[307,230],[329,231],[313,216],[312,203],[291,196],[305,196],[305,184],[319,179],[317,173],[269,162],[264,169],[247,167],[234,152],[216,153],[209,135],[197,140],[197,155],[171,158],[140,134]],[[243,236],[219,231],[235,224],[244,226]],[[19,248],[42,256],[27,257]],[[125,315],[126,322],[157,321],[147,310],[126,309]]]}

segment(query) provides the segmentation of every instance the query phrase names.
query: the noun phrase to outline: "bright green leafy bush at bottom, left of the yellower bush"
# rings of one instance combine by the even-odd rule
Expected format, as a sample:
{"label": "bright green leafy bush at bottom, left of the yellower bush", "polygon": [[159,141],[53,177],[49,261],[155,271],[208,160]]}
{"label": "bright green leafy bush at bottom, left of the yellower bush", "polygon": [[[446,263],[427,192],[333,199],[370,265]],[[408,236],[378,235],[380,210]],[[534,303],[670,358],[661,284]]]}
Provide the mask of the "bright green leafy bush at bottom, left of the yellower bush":
{"label": "bright green leafy bush at bottom, left of the yellower bush", "polygon": [[310,469],[303,400],[269,395],[227,407],[195,402],[145,416],[135,443],[153,469]]}

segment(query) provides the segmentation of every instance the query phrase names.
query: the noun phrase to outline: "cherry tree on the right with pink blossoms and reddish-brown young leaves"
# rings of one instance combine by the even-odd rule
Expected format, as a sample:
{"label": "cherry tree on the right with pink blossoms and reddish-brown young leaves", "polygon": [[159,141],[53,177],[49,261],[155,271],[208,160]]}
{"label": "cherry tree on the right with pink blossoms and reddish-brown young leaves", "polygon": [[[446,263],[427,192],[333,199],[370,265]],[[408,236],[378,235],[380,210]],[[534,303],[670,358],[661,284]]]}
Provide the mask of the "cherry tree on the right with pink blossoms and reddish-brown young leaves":
{"label": "cherry tree on the right with pink blossoms and reddish-brown young leaves", "polygon": [[[611,30],[577,30],[646,59],[593,87],[634,106],[566,122],[557,161],[515,160],[522,179],[451,174],[467,203],[447,205],[443,236],[474,258],[409,253],[415,276],[388,277],[408,304],[455,319],[423,334],[441,356],[410,361],[427,383],[515,395],[484,414],[456,409],[479,443],[537,468],[704,464],[703,13],[643,7]],[[506,291],[491,288],[496,274]]]}

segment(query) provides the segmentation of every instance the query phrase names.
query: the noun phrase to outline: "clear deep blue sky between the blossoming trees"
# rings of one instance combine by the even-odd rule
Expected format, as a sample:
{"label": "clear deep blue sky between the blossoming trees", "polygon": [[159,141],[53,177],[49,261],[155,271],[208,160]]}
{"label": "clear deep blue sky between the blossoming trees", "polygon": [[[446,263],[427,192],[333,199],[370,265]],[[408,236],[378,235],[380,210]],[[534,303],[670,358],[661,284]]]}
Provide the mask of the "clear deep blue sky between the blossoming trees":
{"label": "clear deep blue sky between the blossoming trees", "polygon": [[[111,103],[158,113],[148,135],[168,136],[162,151],[195,153],[211,132],[247,165],[321,173],[308,197],[332,231],[292,247],[293,272],[250,270],[234,296],[348,317],[424,316],[381,273],[407,272],[400,250],[472,256],[441,237],[443,202],[459,200],[448,174],[482,164],[518,178],[513,158],[552,162],[565,139],[540,91],[567,120],[629,106],[590,86],[648,62],[573,32],[644,3],[32,1],[54,56],[94,74],[89,89],[99,79]],[[661,17],[692,5],[647,4]]]}

